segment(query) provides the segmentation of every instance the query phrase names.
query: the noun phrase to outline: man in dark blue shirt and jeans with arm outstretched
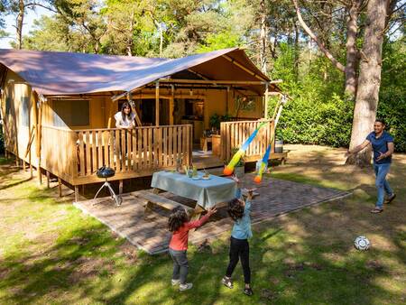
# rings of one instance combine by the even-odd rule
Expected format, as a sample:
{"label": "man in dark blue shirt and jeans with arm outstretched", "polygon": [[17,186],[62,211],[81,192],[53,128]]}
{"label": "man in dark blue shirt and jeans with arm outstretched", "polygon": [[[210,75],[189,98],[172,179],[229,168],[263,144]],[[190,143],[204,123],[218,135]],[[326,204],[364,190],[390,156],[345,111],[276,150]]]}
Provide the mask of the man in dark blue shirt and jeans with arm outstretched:
{"label": "man in dark blue shirt and jeans with arm outstretched", "polygon": [[395,199],[396,195],[393,193],[386,175],[391,167],[392,153],[394,150],[393,137],[391,134],[385,132],[385,123],[382,119],[376,119],[374,123],[374,132],[368,134],[363,143],[356,146],[352,150],[348,150],[348,154],[362,151],[369,144],[372,145],[374,151],[374,171],[376,175],[375,185],[378,189],[378,199],[376,206],[371,213],[383,212],[383,199],[386,192],[387,199],[385,203],[391,203]]}

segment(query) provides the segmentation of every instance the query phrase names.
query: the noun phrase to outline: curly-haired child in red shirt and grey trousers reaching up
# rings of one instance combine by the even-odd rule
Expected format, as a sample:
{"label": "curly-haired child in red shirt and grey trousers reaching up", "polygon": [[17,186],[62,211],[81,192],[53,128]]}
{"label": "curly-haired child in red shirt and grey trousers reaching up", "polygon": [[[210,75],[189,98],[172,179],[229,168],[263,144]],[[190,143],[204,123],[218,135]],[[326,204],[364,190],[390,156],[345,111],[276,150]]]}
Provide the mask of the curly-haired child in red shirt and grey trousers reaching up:
{"label": "curly-haired child in red shirt and grey trousers reaching up", "polygon": [[191,282],[186,282],[188,276],[188,239],[189,230],[202,226],[208,218],[217,212],[216,208],[209,208],[208,213],[196,221],[189,221],[186,210],[182,207],[173,208],[168,221],[168,229],[172,232],[169,252],[173,260],[172,286],[180,284],[180,291],[192,288]]}

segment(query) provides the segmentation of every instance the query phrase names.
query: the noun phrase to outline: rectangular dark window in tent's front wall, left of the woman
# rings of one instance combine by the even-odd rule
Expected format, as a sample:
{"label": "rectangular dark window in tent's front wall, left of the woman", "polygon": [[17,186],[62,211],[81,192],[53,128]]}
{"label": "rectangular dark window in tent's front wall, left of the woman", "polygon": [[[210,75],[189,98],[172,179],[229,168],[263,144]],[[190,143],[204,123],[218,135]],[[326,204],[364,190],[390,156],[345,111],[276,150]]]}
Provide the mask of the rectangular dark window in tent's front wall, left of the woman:
{"label": "rectangular dark window in tent's front wall, left of the woman", "polygon": [[59,127],[90,125],[88,100],[54,100],[53,125]]}

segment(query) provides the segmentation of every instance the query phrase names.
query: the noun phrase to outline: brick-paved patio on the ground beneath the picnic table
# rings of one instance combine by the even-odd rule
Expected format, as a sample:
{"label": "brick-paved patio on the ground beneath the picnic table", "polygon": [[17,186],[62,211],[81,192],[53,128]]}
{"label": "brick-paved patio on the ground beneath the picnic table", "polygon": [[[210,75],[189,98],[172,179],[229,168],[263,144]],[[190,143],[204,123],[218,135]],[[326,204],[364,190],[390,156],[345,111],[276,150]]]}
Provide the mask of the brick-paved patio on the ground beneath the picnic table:
{"label": "brick-paved patio on the ground beneath the picnic table", "polygon": [[[254,176],[246,174],[242,187],[252,188]],[[337,190],[318,188],[287,180],[264,178],[258,187],[258,197],[253,202],[253,224],[306,208],[318,203],[340,199],[350,193]],[[162,193],[174,201],[185,205],[193,205],[189,199]],[[98,203],[93,206],[95,201]],[[86,200],[75,203],[84,213],[96,217],[109,226],[116,234],[123,236],[139,249],[148,254],[158,254],[168,249],[171,234],[167,231],[169,211],[155,208],[147,218],[143,215],[143,200],[137,199],[133,193],[123,195],[123,204],[115,207],[109,198]],[[230,231],[233,223],[226,214],[226,208],[219,208],[217,214],[205,226],[190,233],[189,241],[195,245]]]}

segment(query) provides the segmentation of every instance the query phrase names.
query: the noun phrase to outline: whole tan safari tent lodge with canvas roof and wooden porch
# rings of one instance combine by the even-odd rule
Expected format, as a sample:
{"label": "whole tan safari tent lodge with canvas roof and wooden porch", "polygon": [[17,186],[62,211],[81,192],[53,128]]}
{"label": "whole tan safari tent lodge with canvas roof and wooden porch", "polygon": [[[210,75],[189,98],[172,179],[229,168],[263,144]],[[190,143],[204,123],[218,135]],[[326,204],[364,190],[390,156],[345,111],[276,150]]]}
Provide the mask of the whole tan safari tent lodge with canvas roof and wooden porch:
{"label": "whole tan safari tent lodge with canvas roof and wooden porch", "polygon": [[[0,50],[0,87],[6,153],[76,194],[101,181],[104,164],[116,171],[111,180],[150,176],[179,159],[220,166],[266,120],[246,152],[256,161],[274,133],[268,96],[281,95],[237,48],[176,60]],[[139,118],[134,129],[115,128],[125,101]],[[227,122],[205,136],[215,114]]]}

